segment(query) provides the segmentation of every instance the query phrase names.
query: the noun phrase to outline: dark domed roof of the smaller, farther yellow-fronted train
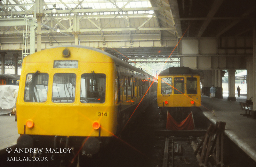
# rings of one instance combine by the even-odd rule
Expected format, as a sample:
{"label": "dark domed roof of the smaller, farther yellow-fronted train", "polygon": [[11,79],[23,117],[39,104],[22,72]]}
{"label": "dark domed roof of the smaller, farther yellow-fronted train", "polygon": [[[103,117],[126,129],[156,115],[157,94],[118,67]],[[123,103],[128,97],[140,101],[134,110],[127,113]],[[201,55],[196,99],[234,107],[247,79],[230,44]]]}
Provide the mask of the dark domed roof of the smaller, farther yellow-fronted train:
{"label": "dark domed roof of the smaller, farther yellow-fronted train", "polygon": [[158,76],[165,75],[199,75],[196,70],[193,70],[189,67],[170,67],[161,71]]}

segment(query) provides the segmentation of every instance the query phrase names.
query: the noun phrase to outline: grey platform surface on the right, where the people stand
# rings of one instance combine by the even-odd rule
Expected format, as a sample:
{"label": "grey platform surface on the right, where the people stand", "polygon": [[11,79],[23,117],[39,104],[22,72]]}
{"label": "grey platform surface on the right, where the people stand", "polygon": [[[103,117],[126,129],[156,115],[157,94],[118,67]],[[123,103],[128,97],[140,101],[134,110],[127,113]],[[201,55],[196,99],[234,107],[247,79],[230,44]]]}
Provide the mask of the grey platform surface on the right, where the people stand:
{"label": "grey platform surface on the right, where the people stand", "polygon": [[240,96],[236,101],[228,101],[228,94],[223,94],[223,99],[214,100],[202,96],[201,108],[212,123],[226,122],[225,134],[256,162],[256,119],[240,115],[245,111],[239,101],[245,100],[246,96]]}

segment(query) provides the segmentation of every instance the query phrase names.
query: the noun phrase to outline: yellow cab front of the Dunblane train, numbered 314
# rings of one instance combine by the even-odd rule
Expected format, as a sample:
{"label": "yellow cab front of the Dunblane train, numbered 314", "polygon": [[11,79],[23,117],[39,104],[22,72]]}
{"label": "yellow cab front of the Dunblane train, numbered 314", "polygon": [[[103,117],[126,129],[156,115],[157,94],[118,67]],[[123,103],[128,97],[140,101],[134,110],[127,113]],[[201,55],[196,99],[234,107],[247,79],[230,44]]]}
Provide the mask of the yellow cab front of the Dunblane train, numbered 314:
{"label": "yellow cab front of the Dunblane train, numbered 314", "polygon": [[[64,53],[64,51],[67,50]],[[18,133],[99,136],[116,131],[114,62],[103,53],[58,47],[23,60],[17,99]],[[108,88],[108,89],[106,89]],[[26,123],[33,122],[28,128]],[[114,123],[113,123],[114,122]]]}

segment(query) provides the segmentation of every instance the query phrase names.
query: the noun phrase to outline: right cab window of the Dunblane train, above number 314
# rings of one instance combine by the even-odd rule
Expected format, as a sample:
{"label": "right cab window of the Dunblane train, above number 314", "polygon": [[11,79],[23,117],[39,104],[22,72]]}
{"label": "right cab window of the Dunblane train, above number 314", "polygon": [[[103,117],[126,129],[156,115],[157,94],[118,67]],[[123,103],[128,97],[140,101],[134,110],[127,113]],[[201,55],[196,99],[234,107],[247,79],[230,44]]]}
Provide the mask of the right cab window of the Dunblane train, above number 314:
{"label": "right cab window of the Dunblane train, above number 314", "polygon": [[105,74],[83,74],[81,76],[81,103],[104,103],[106,94]]}

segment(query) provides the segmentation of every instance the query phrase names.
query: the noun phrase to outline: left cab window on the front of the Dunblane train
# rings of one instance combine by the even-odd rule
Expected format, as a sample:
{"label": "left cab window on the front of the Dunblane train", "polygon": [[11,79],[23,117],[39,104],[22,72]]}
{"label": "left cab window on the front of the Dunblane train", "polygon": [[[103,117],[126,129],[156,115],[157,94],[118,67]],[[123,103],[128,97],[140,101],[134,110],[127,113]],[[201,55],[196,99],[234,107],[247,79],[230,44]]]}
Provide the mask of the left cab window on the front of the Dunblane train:
{"label": "left cab window on the front of the Dunblane train", "polygon": [[48,78],[48,74],[39,73],[39,71],[27,74],[24,101],[45,102],[47,99]]}

